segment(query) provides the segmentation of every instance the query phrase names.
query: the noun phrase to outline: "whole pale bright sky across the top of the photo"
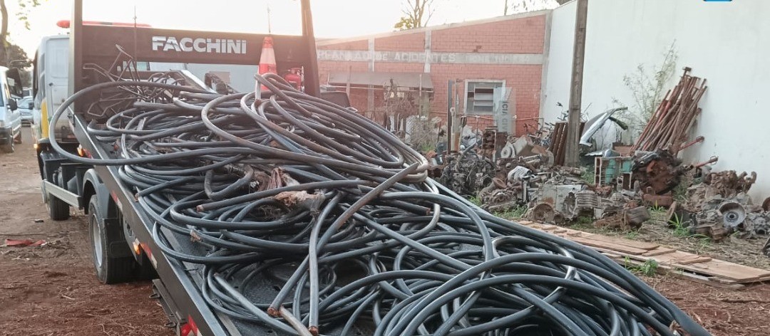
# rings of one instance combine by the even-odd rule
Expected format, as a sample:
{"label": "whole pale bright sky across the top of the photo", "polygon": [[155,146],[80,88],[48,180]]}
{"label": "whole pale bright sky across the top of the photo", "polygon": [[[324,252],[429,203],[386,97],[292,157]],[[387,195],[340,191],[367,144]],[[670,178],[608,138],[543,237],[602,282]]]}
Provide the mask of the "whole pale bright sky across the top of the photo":
{"label": "whole pale bright sky across the top of the photo", "polygon": [[[509,0],[510,2],[531,0]],[[556,7],[555,0],[537,0],[544,8]],[[64,34],[56,26],[69,19],[70,0],[44,0],[29,13],[26,30],[15,13],[18,2],[6,0],[10,15],[11,42],[35,55],[40,38]],[[434,0],[434,15],[428,25],[442,25],[503,15],[505,0]],[[311,0],[316,38],[346,38],[392,32],[403,15],[403,0]],[[106,22],[136,22],[156,28],[177,28],[221,32],[270,32],[300,35],[298,0],[84,0],[83,19]]]}

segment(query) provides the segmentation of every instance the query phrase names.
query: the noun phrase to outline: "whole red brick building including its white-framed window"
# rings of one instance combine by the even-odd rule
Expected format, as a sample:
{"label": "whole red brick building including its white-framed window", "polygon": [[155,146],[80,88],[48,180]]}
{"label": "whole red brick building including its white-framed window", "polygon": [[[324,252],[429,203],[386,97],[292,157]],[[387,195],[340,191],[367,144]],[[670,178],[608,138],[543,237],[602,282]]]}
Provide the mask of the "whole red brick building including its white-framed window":
{"label": "whole red brick building including its white-framed window", "polygon": [[454,105],[467,125],[521,135],[540,118],[550,12],[319,41],[320,82],[349,91],[365,114],[383,106],[394,83],[430,97],[431,116],[445,121]]}

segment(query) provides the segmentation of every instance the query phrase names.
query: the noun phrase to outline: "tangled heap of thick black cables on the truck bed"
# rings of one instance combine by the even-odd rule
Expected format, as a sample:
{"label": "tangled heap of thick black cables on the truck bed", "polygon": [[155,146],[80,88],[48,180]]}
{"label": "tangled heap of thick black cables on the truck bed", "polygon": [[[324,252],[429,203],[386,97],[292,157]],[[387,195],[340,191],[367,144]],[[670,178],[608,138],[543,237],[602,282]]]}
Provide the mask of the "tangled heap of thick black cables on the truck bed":
{"label": "tangled heap of thick black cables on the truck bed", "polygon": [[367,118],[257,80],[269,98],[93,85],[52,117],[102,90],[172,93],[89,125],[112,158],[62,155],[119,167],[163,253],[199,265],[217,311],[279,334],[708,334],[615,261],[438,185]]}

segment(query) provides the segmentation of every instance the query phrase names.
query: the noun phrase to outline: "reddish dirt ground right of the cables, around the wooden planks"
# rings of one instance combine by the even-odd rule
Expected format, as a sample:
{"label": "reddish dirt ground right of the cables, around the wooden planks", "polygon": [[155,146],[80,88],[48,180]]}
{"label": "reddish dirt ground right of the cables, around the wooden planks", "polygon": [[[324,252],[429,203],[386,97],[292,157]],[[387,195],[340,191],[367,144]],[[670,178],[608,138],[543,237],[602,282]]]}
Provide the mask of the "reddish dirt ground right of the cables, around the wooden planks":
{"label": "reddish dirt ground right of the cables, around the wooden planks", "polygon": [[[655,242],[681,251],[770,269],[770,258],[761,252],[766,238],[742,239],[731,236],[717,243],[709,238],[678,235],[668,227],[665,211],[651,211],[651,216],[650,221],[631,232],[594,228],[590,224],[573,225],[573,228]],[[734,291],[665,275],[643,278],[715,335],[770,335],[770,319],[767,318],[770,313],[770,283],[748,285],[740,291]]]}

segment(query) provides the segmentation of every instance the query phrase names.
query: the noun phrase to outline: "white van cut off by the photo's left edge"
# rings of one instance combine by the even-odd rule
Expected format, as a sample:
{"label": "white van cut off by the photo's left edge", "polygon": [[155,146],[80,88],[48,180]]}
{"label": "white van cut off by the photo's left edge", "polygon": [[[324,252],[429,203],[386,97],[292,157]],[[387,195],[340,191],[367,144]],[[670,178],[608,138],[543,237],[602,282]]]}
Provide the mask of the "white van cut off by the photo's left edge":
{"label": "white van cut off by the photo's left edge", "polygon": [[0,66],[0,150],[14,151],[14,144],[22,142],[22,115],[11,98],[8,86],[8,68]]}

